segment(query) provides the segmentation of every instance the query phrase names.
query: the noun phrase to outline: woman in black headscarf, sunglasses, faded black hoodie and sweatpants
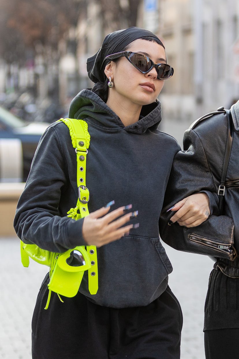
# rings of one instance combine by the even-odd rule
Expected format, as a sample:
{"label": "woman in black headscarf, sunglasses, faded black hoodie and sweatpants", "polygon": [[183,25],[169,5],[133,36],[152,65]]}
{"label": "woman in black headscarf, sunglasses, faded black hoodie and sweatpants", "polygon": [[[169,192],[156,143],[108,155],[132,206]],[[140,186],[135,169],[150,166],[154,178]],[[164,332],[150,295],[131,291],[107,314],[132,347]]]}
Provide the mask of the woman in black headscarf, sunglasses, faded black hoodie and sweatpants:
{"label": "woman in black headscarf, sunglasses, faded black hoodie and sweatpants", "polygon": [[[73,99],[69,117],[85,120],[91,136],[90,215],[66,217],[77,200],[75,151],[68,128],[57,122],[40,140],[14,225],[25,243],[54,252],[96,245],[99,289],[91,295],[84,276],[75,297],[61,303],[52,295],[44,311],[46,276],[33,314],[33,359],[180,358],[182,313],[167,285],[172,266],[158,228],[180,150],[173,137],[157,130],[157,96],[173,69],[158,37],[132,27],[107,35],[87,70],[95,85]],[[206,212],[205,195],[195,196]],[[194,201],[177,204],[182,225],[185,218],[205,219],[200,211],[192,215]]]}

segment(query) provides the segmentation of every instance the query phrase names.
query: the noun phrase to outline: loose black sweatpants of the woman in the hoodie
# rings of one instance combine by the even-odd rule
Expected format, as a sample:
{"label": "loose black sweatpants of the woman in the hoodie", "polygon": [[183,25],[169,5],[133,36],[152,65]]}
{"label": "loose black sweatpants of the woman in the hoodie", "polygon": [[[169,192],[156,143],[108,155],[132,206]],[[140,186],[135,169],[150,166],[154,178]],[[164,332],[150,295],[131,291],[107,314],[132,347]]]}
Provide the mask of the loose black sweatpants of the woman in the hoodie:
{"label": "loose black sweatpants of the woman in the hoodie", "polygon": [[33,359],[179,359],[182,311],[169,287],[145,307],[107,308],[52,293],[46,276],[32,320]]}

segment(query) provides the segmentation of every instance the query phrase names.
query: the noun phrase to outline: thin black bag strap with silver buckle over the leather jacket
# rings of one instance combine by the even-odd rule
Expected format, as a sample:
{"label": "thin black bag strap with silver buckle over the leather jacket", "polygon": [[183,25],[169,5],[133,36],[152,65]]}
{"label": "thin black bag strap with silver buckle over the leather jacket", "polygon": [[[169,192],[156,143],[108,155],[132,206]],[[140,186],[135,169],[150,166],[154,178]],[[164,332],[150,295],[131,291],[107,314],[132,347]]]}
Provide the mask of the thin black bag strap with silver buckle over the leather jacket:
{"label": "thin black bag strap with silver buckle over the leather jacket", "polygon": [[223,212],[223,197],[225,195],[225,181],[226,181],[226,172],[228,171],[228,163],[231,154],[231,146],[233,142],[233,134],[234,134],[234,126],[233,120],[231,117],[231,111],[225,109],[224,107],[219,107],[218,111],[225,111],[228,117],[228,137],[226,140],[226,148],[225,148],[225,155],[223,161],[223,170],[221,173],[221,182],[218,187],[218,196],[219,196],[219,213],[222,214]]}

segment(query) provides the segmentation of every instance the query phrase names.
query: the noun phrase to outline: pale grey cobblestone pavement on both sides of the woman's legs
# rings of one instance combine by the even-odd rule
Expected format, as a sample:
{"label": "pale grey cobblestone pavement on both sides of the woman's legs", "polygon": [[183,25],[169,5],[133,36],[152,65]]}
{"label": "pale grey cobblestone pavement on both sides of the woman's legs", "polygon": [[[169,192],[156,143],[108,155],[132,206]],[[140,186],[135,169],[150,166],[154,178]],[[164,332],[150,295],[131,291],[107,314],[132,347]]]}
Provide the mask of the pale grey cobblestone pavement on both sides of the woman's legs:
{"label": "pale grey cobblestone pavement on both sides of the woman's legs", "polygon": [[[17,238],[0,238],[0,245],[0,359],[30,359],[31,318],[47,267],[30,261],[24,268]],[[184,316],[181,359],[205,359],[203,311],[212,260],[165,248],[174,267],[169,285]]]}

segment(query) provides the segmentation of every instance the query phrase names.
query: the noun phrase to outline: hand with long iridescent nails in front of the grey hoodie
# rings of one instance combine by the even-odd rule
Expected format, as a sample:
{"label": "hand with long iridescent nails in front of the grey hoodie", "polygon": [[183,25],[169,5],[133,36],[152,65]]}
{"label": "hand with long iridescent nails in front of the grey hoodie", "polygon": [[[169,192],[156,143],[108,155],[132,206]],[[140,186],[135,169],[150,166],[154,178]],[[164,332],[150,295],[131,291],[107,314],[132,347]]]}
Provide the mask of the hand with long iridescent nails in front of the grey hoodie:
{"label": "hand with long iridescent nails in front of the grey hoodie", "polygon": [[132,216],[136,217],[138,214],[137,211],[124,214],[131,208],[132,205],[128,205],[108,213],[110,206],[106,206],[86,216],[82,226],[82,235],[86,244],[101,247],[129,234],[131,228],[138,227],[138,223],[124,226]]}

